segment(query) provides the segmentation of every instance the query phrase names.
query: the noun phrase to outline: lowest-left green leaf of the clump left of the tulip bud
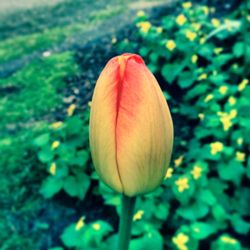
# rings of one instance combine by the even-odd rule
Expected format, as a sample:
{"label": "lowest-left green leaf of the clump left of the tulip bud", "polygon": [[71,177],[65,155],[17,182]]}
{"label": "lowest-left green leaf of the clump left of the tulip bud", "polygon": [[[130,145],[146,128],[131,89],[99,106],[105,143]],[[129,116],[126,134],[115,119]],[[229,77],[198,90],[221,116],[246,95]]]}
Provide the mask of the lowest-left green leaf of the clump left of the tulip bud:
{"label": "lowest-left green leaf of the clump left of the tulip bud", "polygon": [[49,176],[43,181],[40,193],[46,199],[48,199],[54,196],[56,193],[58,193],[62,187],[63,187],[63,181],[61,179]]}

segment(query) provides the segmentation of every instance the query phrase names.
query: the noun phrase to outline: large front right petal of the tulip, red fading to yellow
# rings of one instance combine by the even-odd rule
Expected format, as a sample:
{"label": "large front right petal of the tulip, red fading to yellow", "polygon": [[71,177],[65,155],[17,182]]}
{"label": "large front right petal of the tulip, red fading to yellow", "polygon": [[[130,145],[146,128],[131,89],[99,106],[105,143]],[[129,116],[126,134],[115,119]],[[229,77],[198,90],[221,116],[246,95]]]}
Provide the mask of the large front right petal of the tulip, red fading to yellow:
{"label": "large front right petal of the tulip, red fading to yellow", "polygon": [[[154,76],[138,56],[127,60],[116,124],[117,165],[128,196],[153,190],[165,176],[173,125]],[[167,151],[168,150],[168,151]]]}

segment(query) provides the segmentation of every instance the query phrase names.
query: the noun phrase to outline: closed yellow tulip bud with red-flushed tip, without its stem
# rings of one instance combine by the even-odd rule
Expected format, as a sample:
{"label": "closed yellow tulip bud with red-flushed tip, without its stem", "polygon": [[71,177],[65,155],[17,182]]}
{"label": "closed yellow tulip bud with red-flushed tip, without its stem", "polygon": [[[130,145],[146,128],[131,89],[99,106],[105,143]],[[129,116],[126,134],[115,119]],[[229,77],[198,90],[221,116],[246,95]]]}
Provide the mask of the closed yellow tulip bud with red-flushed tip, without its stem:
{"label": "closed yellow tulip bud with red-flushed tip, without its stem", "polygon": [[90,148],[101,179],[127,196],[163,181],[173,146],[164,95],[142,58],[123,54],[103,69],[90,113]]}

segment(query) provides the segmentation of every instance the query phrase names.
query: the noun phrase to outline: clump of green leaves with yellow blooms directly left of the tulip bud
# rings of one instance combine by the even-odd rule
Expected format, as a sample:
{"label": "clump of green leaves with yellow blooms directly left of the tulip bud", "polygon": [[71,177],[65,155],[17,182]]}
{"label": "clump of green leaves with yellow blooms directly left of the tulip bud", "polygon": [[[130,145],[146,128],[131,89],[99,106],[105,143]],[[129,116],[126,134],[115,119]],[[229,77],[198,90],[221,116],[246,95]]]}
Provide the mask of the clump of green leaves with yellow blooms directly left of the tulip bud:
{"label": "clump of green leaves with yellow blooms directly left of the tulip bud", "polygon": [[69,196],[84,199],[90,186],[88,116],[88,112],[84,118],[69,116],[34,139],[37,157],[50,174],[40,190],[45,198],[64,190]]}

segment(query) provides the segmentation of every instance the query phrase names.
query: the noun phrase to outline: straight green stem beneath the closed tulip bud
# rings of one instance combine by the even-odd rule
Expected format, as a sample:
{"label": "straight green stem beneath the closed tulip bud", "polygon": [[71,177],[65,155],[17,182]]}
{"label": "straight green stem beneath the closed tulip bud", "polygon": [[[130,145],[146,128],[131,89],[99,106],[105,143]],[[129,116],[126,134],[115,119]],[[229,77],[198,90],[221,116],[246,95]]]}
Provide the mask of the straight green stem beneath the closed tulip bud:
{"label": "straight green stem beneath the closed tulip bud", "polygon": [[118,250],[128,250],[136,197],[122,195]]}

